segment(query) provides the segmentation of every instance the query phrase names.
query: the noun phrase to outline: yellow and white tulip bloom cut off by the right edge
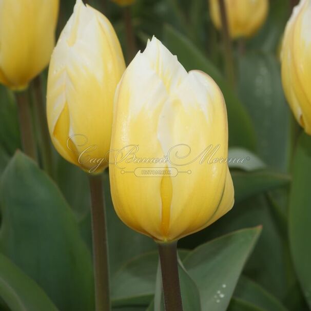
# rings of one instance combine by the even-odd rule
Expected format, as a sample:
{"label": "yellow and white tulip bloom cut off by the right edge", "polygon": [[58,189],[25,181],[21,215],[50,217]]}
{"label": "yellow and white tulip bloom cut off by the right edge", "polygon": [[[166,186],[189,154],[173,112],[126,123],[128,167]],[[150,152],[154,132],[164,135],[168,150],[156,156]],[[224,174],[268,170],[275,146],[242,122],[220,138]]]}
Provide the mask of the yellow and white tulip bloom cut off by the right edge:
{"label": "yellow and white tulip bloom cut off by the right edge", "polygon": [[295,118],[311,135],[311,0],[294,9],[281,50],[282,83]]}

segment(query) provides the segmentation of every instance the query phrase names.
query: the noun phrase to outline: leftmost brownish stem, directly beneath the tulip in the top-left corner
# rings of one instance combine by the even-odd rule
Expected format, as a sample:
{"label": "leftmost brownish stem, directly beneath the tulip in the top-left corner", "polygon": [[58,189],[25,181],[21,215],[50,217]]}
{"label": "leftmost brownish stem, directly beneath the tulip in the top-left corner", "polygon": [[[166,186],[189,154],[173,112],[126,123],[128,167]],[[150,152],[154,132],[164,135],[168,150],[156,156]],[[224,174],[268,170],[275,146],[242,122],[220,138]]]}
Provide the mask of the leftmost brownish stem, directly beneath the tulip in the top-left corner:
{"label": "leftmost brownish stem, directly beneath the tulip in the top-left corner", "polygon": [[36,148],[34,142],[31,113],[27,90],[15,92],[18,118],[20,119],[20,129],[22,146],[24,152],[36,161]]}

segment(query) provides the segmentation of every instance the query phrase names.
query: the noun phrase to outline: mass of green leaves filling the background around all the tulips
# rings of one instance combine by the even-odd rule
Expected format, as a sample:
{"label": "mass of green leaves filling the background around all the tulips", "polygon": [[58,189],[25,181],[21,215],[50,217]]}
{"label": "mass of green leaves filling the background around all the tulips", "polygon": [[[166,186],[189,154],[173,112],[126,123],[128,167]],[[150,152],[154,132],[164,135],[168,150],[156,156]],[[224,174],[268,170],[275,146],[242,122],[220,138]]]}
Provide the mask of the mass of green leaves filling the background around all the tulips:
{"label": "mass of green leaves filling the background around all the tulips", "polygon": [[[61,0],[57,36],[74,3]],[[311,140],[300,133],[280,79],[279,50],[290,3],[271,0],[256,36],[233,43],[234,88],[224,76],[221,36],[206,0],[137,0],[130,7],[137,50],[156,35],[187,70],[203,70],[217,82],[227,105],[230,152],[250,158],[230,167],[234,208],[179,242],[186,311],[311,307],[311,249],[305,247],[311,236],[311,178],[305,174],[311,171]],[[125,10],[110,1],[89,4],[112,22],[128,63]],[[41,75],[44,87],[46,79],[47,70]],[[31,90],[29,97],[34,100]],[[0,102],[0,309],[92,311],[87,176],[54,152],[49,178],[16,152],[21,147],[16,106],[3,86]],[[160,310],[156,244],[115,215],[108,172],[104,178],[114,310]]]}

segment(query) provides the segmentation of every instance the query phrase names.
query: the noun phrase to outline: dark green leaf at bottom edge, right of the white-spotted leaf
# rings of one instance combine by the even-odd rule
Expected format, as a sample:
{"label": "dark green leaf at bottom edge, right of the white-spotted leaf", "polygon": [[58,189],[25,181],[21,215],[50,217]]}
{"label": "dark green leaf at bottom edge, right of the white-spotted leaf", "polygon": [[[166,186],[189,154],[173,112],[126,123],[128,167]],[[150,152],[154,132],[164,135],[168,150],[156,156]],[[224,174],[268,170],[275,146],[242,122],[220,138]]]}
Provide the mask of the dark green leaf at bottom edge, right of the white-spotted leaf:
{"label": "dark green leaf at bottom edge, right of the white-spotted leaf", "polygon": [[234,297],[252,303],[265,311],[286,311],[287,309],[273,295],[268,293],[256,282],[241,277]]}

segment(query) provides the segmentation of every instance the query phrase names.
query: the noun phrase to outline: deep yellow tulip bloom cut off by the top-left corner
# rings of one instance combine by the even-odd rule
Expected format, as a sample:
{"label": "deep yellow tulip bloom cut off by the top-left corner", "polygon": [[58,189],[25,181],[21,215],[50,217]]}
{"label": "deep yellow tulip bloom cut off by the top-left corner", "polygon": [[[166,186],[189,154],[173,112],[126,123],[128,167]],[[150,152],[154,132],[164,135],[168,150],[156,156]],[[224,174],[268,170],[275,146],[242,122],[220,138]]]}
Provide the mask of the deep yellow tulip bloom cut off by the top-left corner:
{"label": "deep yellow tulip bloom cut off by the top-left corner", "polygon": [[0,1],[0,83],[24,89],[49,63],[59,0]]}

